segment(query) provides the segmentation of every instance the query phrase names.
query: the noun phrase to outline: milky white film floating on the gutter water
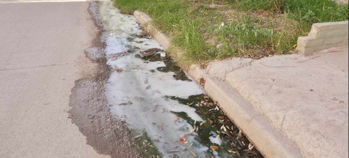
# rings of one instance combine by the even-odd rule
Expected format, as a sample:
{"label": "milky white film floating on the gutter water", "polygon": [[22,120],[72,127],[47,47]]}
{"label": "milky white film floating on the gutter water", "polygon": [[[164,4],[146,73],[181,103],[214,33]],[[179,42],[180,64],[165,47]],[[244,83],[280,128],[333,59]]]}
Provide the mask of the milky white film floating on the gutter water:
{"label": "milky white film floating on the gutter water", "polygon": [[[161,72],[156,68],[166,66],[162,61],[145,62],[135,57],[140,51],[149,48],[163,49],[157,41],[137,38],[141,30],[134,16],[123,15],[112,6],[111,1],[98,2],[99,16],[110,33],[105,38],[105,54],[112,55],[135,48],[133,53],[108,59],[111,68],[121,68],[121,72],[111,73],[106,83],[105,94],[110,111],[118,118],[125,119],[132,129],[145,130],[154,140],[163,157],[172,156],[171,150],[178,150],[176,155],[181,158],[196,156],[209,158],[208,147],[195,140],[196,133],[186,137],[188,143],[179,143],[181,135],[188,134],[193,126],[186,120],[178,118],[173,112],[185,112],[196,121],[204,121],[195,109],[171,100],[167,96],[187,98],[191,95],[204,93],[193,81],[176,80],[174,72]],[[134,38],[128,41],[127,38]]]}

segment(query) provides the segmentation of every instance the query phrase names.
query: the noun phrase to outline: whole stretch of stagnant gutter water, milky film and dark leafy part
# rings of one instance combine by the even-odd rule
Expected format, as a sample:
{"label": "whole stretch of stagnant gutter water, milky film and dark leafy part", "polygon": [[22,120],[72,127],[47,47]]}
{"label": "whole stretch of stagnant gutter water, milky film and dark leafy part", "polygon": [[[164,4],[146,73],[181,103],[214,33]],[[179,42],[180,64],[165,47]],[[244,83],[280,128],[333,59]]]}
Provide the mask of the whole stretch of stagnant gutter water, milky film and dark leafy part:
{"label": "whole stretch of stagnant gutter water, milky film and dark leafy part", "polygon": [[[224,133],[211,127],[215,122],[223,132],[238,129],[171,58],[160,57],[161,51],[149,57],[140,53],[163,48],[144,36],[134,16],[121,14],[112,1],[99,1],[98,14],[107,30],[105,54],[113,70],[105,92],[110,111],[128,123],[139,145],[147,146],[142,148],[146,156],[261,157],[246,137],[233,142],[220,137]],[[245,147],[239,149],[244,153],[231,150],[230,143]]]}

